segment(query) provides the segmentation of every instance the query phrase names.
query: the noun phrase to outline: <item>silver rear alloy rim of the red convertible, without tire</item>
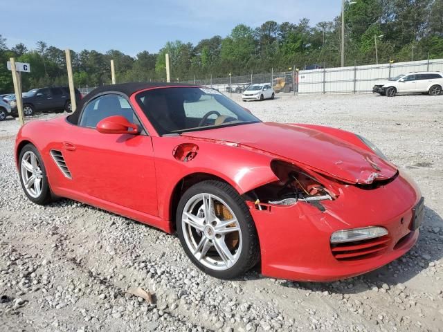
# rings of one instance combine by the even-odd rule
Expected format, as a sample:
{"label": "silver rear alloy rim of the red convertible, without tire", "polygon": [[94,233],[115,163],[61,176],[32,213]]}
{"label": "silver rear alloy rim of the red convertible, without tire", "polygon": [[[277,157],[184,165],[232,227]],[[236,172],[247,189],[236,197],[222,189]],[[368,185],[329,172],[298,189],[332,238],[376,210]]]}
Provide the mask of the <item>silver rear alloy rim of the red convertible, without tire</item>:
{"label": "silver rear alloy rim of the red convertible, without tire", "polygon": [[21,158],[21,180],[31,197],[37,199],[42,194],[43,172],[33,151],[26,151]]}

